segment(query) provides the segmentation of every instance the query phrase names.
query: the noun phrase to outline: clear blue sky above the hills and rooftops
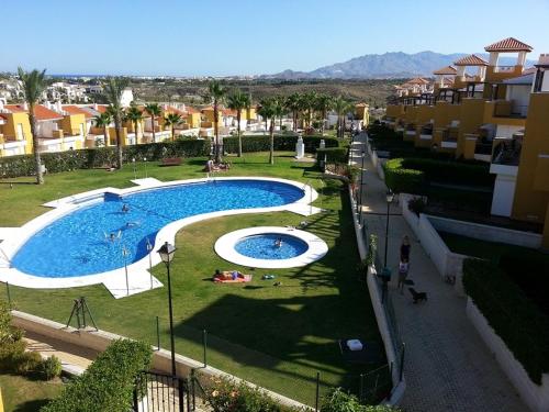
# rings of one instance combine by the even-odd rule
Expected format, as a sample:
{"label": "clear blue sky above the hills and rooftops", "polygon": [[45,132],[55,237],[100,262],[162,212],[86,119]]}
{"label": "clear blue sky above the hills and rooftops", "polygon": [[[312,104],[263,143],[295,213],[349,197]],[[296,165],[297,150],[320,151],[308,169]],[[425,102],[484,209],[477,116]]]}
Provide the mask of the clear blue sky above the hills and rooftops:
{"label": "clear blue sky above the hills and rooftops", "polygon": [[0,71],[223,76],[312,70],[363,54],[549,53],[549,0],[0,0]]}

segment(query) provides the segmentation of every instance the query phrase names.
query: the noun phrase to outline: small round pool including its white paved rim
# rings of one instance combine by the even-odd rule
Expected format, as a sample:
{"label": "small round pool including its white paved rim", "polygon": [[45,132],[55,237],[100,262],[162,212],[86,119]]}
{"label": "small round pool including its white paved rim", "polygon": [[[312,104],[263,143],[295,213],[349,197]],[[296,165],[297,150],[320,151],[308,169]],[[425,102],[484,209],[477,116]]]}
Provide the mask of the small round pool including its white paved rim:
{"label": "small round pool including its white paved rim", "polygon": [[310,265],[326,255],[328,245],[295,227],[260,226],[227,233],[215,242],[214,249],[233,264],[280,269]]}

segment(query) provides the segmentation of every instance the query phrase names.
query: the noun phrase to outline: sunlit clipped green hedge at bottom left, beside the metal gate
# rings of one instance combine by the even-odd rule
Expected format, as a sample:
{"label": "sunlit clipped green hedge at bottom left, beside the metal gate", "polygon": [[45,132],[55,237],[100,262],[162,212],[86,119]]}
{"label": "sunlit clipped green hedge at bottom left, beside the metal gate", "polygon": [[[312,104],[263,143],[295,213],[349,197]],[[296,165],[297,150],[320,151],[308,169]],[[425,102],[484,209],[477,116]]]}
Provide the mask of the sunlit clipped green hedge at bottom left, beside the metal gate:
{"label": "sunlit clipped green hedge at bottom left, beside the metal gate", "polygon": [[144,343],[114,341],[90,367],[42,412],[127,412],[135,379],[150,366],[153,350]]}

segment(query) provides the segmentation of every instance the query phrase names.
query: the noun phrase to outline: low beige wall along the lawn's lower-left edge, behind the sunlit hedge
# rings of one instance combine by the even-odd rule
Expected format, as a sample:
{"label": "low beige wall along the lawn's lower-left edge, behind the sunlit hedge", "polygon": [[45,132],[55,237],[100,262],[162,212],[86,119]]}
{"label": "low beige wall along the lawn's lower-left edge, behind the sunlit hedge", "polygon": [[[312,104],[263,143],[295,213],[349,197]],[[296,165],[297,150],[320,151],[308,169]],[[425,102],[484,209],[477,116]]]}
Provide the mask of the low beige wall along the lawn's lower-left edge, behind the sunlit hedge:
{"label": "low beige wall along the lawn's lower-left edge, behind the sunlit hedge", "polygon": [[[34,332],[38,335],[48,336],[75,346],[80,346],[97,352],[103,352],[114,339],[124,338],[124,336],[104,331],[78,331],[74,327],[65,327],[65,325],[61,325],[60,323],[19,311],[12,311],[12,323],[25,331]],[[199,369],[200,374],[205,377],[224,377],[236,381],[244,381],[235,376],[212,368],[210,366],[204,368],[204,365],[202,363],[199,363],[186,356],[176,355],[176,363],[177,375],[180,377],[188,377],[190,376],[192,369]],[[153,369],[160,372],[171,375],[170,352],[164,349],[154,352],[152,367]],[[246,383],[250,385],[251,387],[256,387],[253,383]],[[304,408],[305,410],[310,410],[310,408],[294,401],[293,399],[283,397],[279,393],[266,389],[264,390],[269,394],[269,397],[271,397],[282,405],[290,408]]]}

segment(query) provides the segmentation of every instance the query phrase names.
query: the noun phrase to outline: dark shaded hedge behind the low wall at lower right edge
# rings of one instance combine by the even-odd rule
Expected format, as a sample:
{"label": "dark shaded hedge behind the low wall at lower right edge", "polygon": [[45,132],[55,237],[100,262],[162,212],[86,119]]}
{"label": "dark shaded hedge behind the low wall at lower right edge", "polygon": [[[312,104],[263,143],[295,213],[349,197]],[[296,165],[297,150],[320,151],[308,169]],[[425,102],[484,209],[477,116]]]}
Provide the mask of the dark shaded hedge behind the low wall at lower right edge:
{"label": "dark shaded hedge behind the low wall at lower right edge", "polygon": [[488,260],[463,261],[463,286],[530,379],[541,385],[542,374],[549,372],[549,316]]}

